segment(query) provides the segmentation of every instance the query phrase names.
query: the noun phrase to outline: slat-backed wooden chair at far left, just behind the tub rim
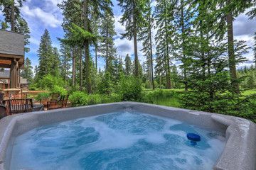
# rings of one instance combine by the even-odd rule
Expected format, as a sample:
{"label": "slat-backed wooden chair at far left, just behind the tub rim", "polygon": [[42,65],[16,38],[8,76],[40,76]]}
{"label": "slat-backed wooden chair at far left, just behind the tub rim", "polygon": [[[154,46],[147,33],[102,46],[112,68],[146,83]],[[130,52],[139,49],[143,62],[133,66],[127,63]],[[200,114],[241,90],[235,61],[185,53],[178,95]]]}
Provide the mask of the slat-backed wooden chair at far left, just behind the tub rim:
{"label": "slat-backed wooden chair at far left, just behind the tub rim", "polygon": [[31,112],[33,109],[32,98],[18,98],[3,101],[7,115]]}

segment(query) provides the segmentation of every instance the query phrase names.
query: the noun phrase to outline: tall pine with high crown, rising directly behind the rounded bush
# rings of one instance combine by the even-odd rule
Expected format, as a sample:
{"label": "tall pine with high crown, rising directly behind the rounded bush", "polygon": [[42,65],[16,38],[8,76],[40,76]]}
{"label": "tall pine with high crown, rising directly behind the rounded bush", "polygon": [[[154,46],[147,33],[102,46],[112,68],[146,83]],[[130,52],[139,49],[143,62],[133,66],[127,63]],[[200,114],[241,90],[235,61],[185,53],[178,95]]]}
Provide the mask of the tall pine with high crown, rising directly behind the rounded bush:
{"label": "tall pine with high crown, rising directly behind the rounded bush", "polygon": [[142,7],[144,6],[142,0],[118,0],[119,6],[122,8],[122,18],[120,23],[125,25],[126,33],[122,34],[122,38],[134,40],[134,62],[135,62],[135,76],[139,77],[139,59],[137,50],[137,32],[139,28],[139,21],[142,21]]}

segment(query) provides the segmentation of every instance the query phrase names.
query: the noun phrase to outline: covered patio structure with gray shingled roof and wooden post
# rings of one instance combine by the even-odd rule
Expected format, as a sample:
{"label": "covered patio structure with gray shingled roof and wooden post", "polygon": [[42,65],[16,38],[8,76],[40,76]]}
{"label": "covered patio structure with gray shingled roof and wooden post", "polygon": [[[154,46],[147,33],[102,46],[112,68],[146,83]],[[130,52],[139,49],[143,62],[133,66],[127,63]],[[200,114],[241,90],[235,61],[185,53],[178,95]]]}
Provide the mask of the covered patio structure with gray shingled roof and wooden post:
{"label": "covered patio structure with gray shingled roof and wooden post", "polygon": [[10,69],[9,88],[18,88],[19,69],[24,68],[24,35],[0,30],[0,68]]}

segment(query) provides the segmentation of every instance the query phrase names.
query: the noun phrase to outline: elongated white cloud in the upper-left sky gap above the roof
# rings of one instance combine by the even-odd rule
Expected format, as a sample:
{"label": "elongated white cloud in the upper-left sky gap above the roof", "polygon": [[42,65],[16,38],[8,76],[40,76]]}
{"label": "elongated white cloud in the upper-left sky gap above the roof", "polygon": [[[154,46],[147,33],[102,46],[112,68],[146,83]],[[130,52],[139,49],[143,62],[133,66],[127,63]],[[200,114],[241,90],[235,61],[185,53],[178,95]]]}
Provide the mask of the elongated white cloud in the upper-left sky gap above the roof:
{"label": "elongated white cloud in the upper-left sky gap above the roof", "polygon": [[44,26],[57,28],[62,22],[58,20],[53,13],[46,13],[38,7],[29,8],[28,6],[23,6],[23,8],[21,8],[21,12],[29,20],[32,20],[33,22],[39,21],[40,23],[43,23]]}

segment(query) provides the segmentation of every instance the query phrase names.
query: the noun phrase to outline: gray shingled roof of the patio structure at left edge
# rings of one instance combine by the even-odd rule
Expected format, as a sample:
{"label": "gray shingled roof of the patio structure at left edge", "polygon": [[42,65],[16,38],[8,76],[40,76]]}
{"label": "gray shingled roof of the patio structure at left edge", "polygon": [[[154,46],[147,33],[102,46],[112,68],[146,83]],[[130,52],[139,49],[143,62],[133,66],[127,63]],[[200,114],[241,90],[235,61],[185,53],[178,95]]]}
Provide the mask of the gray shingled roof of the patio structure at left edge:
{"label": "gray shingled roof of the patio structure at left edge", "polygon": [[24,35],[0,30],[0,54],[24,56]]}

